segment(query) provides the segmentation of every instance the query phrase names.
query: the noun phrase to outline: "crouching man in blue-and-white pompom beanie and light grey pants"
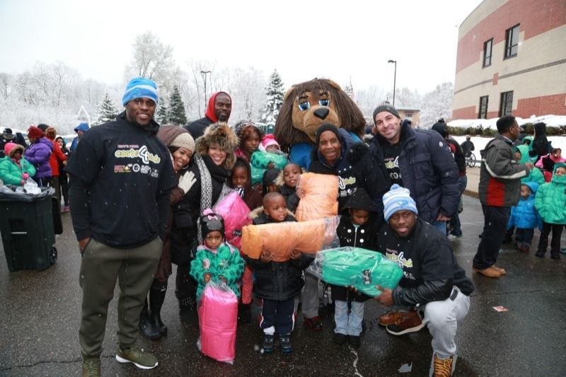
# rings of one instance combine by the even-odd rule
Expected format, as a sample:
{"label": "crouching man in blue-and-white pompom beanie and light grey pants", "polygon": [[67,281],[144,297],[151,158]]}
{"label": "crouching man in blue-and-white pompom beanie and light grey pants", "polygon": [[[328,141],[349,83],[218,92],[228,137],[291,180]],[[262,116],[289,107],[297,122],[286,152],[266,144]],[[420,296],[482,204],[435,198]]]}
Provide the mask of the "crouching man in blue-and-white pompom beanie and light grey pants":
{"label": "crouching man in blue-and-white pompom beanie and light grey pants", "polygon": [[[408,189],[399,185],[383,195],[383,215],[387,224],[381,229],[377,250],[397,262],[403,277],[397,289],[381,286],[376,296],[384,306],[408,306],[412,316],[399,315],[387,325],[392,335],[403,335],[427,325],[432,335],[430,376],[451,376],[456,366],[456,330],[468,314],[473,283],[458,265],[448,238],[437,228],[420,219],[415,201]],[[415,326],[409,321],[420,324]]]}

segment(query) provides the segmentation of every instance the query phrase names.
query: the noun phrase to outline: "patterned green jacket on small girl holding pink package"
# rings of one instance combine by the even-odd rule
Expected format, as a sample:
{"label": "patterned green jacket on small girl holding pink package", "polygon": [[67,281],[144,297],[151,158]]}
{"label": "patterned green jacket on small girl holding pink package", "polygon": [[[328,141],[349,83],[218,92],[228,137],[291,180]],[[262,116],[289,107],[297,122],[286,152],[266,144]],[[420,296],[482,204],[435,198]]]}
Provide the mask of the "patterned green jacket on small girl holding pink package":
{"label": "patterned green jacket on small girl holding pink package", "polygon": [[197,248],[195,259],[190,262],[190,276],[197,281],[197,300],[200,298],[204,286],[204,274],[210,274],[212,282],[221,282],[220,277],[226,279],[226,284],[236,296],[240,296],[238,280],[243,274],[244,262],[238,249],[229,243],[222,243],[218,250],[211,250],[200,245]]}

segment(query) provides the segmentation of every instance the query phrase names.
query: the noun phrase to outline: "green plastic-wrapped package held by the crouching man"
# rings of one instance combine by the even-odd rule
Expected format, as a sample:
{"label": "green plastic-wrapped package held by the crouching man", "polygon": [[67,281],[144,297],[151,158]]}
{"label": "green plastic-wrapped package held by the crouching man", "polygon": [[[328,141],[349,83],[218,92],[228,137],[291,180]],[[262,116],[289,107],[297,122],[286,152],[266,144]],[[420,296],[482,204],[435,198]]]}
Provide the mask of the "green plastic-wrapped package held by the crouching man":
{"label": "green plastic-wrapped package held by the crouching man", "polygon": [[[395,289],[403,269],[383,254],[362,248],[335,248],[318,253],[316,265],[321,265],[320,277],[327,283],[354,286],[368,296],[378,296],[376,285]],[[320,262],[320,264],[319,264]]]}

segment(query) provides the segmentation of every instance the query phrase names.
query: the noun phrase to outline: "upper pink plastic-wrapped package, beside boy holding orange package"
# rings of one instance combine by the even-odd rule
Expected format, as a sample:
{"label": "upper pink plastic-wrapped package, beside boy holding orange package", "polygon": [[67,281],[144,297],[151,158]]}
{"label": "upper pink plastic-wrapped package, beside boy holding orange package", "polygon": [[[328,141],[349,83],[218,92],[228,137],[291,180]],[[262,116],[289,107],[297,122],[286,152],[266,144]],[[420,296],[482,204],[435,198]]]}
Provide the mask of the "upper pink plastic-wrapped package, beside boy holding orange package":
{"label": "upper pink plastic-wrapped package, beside boy holding orange package", "polygon": [[252,223],[251,219],[248,218],[250,209],[246,203],[237,192],[231,192],[214,206],[214,212],[224,219],[226,240],[238,250],[241,250],[242,228]]}

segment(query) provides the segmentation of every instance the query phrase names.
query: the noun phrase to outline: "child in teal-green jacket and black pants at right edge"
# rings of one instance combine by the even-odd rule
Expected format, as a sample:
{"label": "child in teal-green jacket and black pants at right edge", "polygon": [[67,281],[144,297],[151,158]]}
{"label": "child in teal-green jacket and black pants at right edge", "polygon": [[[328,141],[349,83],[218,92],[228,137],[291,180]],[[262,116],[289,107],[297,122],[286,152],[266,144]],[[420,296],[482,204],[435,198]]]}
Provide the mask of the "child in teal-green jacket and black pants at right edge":
{"label": "child in teal-green jacket and black pants at right edge", "polygon": [[566,163],[556,163],[553,179],[538,187],[535,207],[543,218],[543,231],[538,241],[537,257],[544,257],[548,247],[550,231],[550,257],[560,259],[560,236],[566,224]]}

